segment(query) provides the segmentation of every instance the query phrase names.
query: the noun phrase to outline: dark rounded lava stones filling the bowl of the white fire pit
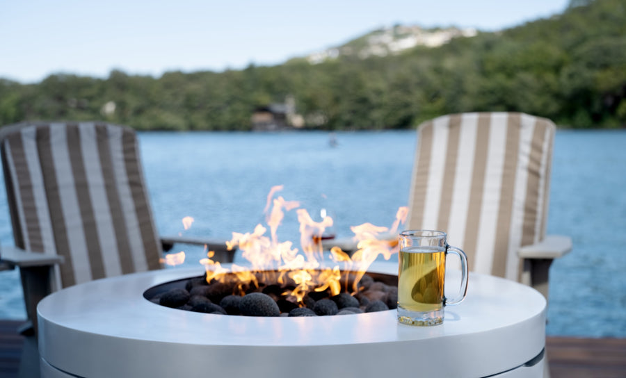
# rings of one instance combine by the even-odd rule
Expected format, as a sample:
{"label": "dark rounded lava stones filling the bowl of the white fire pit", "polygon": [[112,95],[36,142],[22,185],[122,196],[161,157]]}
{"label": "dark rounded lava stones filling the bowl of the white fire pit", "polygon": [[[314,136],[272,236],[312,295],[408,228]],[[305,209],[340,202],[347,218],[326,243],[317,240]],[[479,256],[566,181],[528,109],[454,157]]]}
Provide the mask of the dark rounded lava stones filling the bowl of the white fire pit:
{"label": "dark rounded lava stones filling the bowl of the white fire pit", "polygon": [[248,316],[351,315],[395,309],[398,300],[398,277],[390,274],[360,277],[358,272],[342,271],[345,288],[353,288],[358,280],[355,295],[346,291],[332,295],[330,288],[317,288],[306,293],[300,304],[289,295],[296,288],[292,279],[285,279],[277,271],[254,274],[257,284],[242,286],[235,273],[226,273],[220,281],[207,283],[204,275],[154,286],[143,297],[174,309]]}

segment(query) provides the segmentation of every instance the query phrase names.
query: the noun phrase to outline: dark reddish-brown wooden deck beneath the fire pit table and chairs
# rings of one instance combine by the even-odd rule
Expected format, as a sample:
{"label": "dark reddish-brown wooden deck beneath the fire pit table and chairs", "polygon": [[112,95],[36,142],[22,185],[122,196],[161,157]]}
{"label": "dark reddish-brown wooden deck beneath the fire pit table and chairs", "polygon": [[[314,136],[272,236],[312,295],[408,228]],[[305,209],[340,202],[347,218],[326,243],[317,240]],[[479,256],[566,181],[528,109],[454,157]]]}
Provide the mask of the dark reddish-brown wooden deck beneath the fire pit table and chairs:
{"label": "dark reddish-brown wooden deck beneath the fire pit table and chairs", "polygon": [[[18,377],[22,322],[0,320],[0,378]],[[626,338],[548,337],[551,378],[626,378]]]}

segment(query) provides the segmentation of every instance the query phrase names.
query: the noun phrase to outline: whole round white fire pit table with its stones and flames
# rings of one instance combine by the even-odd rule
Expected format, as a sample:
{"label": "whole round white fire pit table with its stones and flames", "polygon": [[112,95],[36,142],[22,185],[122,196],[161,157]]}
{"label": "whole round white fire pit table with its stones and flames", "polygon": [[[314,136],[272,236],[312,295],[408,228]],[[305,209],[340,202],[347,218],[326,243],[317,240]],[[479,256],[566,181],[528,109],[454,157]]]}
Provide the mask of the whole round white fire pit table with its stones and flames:
{"label": "whole round white fire pit table with its stones and flames", "polygon": [[[398,265],[377,261],[380,256],[388,260],[397,246],[376,235],[396,233],[406,208],[390,229],[353,227],[359,245],[351,256],[338,248],[323,251],[319,240],[332,220],[313,222],[299,208],[298,250],[291,242],[280,243],[276,229],[283,211],[299,204],[271,200],[277,190],[270,192],[266,206],[273,202],[267,212],[270,236],[259,224],[252,233],[233,233],[228,243],[242,251],[250,266],[220,265],[207,251],[200,260],[204,276],[199,268],[127,274],[45,297],[38,305],[42,376],[522,377],[543,372],[543,295],[512,281],[470,274],[465,302],[446,310],[444,324],[399,324],[396,311],[387,309],[394,306]],[[178,257],[170,254],[165,261]],[[449,287],[457,287],[456,273],[446,273]],[[223,296],[211,300],[204,293],[191,303],[194,282],[198,287],[224,284],[228,277],[235,277],[235,286]],[[374,279],[387,288],[368,297],[366,281]],[[179,290],[184,300],[168,297],[171,290]],[[222,302],[233,294],[241,301],[250,295],[278,300],[267,304],[275,306],[268,312],[250,311],[256,304],[248,304],[236,306],[248,316],[226,315],[234,306]],[[360,299],[358,306],[342,305],[344,315],[323,316],[334,313],[332,306],[342,295],[346,301]],[[266,303],[265,297],[259,300]],[[367,312],[371,303],[382,311]],[[294,315],[309,306],[322,316]]]}

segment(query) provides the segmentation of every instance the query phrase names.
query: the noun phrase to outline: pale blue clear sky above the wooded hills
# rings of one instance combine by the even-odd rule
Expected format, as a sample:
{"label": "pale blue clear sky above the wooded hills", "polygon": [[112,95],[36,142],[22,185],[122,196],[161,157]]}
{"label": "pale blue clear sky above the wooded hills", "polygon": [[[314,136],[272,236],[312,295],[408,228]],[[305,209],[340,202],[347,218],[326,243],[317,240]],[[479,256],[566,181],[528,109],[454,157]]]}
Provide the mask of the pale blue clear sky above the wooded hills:
{"label": "pale blue clear sky above the wooded hills", "polygon": [[276,65],[394,24],[497,31],[569,0],[0,0],[0,78]]}

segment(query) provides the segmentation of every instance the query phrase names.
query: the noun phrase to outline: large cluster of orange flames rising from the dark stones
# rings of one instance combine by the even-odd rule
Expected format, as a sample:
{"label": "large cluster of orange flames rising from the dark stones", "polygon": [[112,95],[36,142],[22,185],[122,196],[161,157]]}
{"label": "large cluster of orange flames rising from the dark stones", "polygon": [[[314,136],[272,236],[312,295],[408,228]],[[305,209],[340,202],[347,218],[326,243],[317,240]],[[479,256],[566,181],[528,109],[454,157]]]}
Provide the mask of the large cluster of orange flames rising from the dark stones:
{"label": "large cluster of orange flames rising from the dark stones", "polygon": [[[287,201],[280,196],[274,198],[276,192],[282,189],[283,186],[273,186],[267,196],[264,209],[267,227],[257,224],[252,233],[233,232],[231,240],[226,243],[228,249],[237,247],[241,250],[241,256],[250,263],[250,267],[232,264],[231,269],[227,270],[212,260],[214,253],[206,251],[205,246],[207,258],[202,258],[200,263],[204,265],[207,282],[234,277],[235,290],[239,295],[244,295],[252,286],[259,288],[259,281],[275,282],[293,287],[282,295],[287,300],[302,304],[305,295],[312,290],[329,290],[331,295],[342,293],[342,290],[357,292],[360,279],[378,256],[388,260],[398,252],[396,238],[385,240],[383,236],[396,233],[399,224],[406,221],[406,207],[396,212],[396,220],[391,228],[370,223],[351,227],[355,234],[354,240],[358,242],[358,250],[350,256],[339,247],[332,247],[330,260],[335,265],[320,269],[324,258],[321,236],[326,228],[332,227],[333,220],[326,215],[320,222],[315,222],[304,208],[300,208],[300,202]],[[294,210],[300,223],[300,249],[294,247],[291,241],[278,240],[278,226],[284,220],[285,213]],[[266,235],[268,230],[269,236]],[[344,265],[344,271],[339,265]],[[353,284],[348,287],[350,281]]]}

